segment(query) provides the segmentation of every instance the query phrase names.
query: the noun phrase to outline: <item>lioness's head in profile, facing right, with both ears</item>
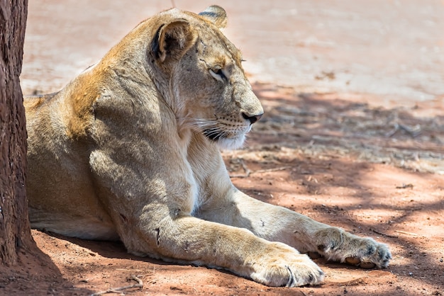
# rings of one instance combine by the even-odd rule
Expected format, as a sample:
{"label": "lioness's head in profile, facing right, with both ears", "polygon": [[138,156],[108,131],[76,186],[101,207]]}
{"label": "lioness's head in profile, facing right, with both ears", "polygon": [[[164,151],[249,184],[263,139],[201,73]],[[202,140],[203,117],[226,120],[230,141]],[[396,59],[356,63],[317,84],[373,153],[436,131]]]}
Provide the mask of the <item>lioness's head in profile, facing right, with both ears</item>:
{"label": "lioness's head in profile, facing right, with both ears", "polygon": [[169,76],[179,127],[191,127],[219,147],[237,148],[263,109],[240,51],[219,30],[224,25],[226,12],[219,6],[199,15],[164,11],[149,55],[153,67]]}

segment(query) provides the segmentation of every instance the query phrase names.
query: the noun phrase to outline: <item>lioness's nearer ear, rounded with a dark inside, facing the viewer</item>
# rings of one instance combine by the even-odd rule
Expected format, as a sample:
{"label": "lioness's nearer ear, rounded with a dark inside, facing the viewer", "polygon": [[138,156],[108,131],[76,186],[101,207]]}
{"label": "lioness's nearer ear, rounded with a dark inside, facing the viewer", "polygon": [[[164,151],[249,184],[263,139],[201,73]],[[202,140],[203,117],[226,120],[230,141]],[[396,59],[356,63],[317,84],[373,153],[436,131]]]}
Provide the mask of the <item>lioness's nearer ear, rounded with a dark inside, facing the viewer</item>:
{"label": "lioness's nearer ear, rounded with a dark inside, facing the viewer", "polygon": [[180,59],[196,41],[196,33],[187,20],[177,19],[161,25],[151,42],[151,50],[160,62]]}

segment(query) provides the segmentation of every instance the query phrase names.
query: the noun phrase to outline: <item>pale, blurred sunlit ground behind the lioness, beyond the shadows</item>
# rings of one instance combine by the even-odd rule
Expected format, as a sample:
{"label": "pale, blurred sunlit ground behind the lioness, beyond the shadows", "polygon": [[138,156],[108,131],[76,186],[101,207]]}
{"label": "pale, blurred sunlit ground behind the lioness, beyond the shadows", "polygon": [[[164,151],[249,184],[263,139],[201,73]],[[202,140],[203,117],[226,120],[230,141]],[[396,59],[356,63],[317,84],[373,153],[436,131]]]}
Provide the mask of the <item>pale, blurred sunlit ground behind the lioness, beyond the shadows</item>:
{"label": "pale, blurred sunlit ground behind the lioness, beyond the shadows", "polygon": [[158,11],[211,4],[226,9],[253,82],[369,93],[382,105],[443,100],[443,0],[30,1],[23,93],[57,91]]}

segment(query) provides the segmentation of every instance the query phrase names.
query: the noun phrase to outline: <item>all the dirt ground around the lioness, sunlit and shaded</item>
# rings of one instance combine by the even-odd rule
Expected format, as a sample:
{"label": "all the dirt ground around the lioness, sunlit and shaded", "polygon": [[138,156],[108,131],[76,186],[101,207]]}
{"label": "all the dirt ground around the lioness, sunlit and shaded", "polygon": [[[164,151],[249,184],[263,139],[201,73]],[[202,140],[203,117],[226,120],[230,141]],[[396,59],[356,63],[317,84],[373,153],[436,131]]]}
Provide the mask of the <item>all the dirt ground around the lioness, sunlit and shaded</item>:
{"label": "all the dirt ground around the lioness, sunlit and shaded", "polygon": [[[60,89],[165,1],[34,1],[24,93]],[[269,2],[272,2],[271,4]],[[177,1],[199,11],[206,1]],[[0,267],[0,295],[443,295],[444,2],[224,1],[226,34],[265,108],[223,152],[238,188],[374,237],[385,270],[315,261],[323,285],[268,288],[231,273],[128,255],[120,243],[33,230],[39,260]],[[143,9],[140,9],[143,7]],[[38,263],[40,262],[40,263]],[[43,263],[41,263],[43,262]]]}

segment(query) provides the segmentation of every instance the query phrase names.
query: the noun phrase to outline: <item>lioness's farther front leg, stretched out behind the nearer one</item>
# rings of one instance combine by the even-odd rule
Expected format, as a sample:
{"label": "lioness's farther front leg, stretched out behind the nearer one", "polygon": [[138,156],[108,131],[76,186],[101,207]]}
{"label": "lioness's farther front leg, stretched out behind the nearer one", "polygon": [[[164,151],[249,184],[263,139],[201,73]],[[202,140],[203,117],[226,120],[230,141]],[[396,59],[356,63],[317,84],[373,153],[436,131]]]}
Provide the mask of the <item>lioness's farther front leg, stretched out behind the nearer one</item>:
{"label": "lioness's farther front leg, stretched out behind the nearer one", "polygon": [[392,255],[385,244],[316,222],[284,207],[262,203],[239,190],[229,191],[228,198],[218,200],[216,205],[202,211],[201,217],[244,227],[258,237],[281,241],[301,253],[316,252],[331,261],[362,268],[386,268],[389,265]]}

